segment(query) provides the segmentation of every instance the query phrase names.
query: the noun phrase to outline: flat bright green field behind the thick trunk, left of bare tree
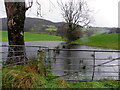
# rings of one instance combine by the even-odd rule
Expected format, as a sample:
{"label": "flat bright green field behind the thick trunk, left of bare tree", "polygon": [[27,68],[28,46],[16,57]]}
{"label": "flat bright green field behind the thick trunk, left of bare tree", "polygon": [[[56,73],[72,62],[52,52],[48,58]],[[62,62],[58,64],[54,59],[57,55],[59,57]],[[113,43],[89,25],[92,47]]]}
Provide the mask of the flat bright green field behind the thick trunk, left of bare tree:
{"label": "flat bright green field behind the thick trunk, left of bare tree", "polygon": [[[2,42],[7,42],[8,41],[7,31],[0,31],[0,35],[1,34]],[[25,32],[24,39],[25,41],[62,41],[61,37],[58,36],[52,36],[47,34],[34,34],[28,32]]]}

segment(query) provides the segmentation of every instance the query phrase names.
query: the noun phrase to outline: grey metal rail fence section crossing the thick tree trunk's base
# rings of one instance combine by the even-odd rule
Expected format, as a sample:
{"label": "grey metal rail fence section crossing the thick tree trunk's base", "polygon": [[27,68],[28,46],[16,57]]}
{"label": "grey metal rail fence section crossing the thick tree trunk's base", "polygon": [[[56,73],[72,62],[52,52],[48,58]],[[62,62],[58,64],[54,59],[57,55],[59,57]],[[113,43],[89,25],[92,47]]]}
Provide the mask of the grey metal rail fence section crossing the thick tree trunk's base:
{"label": "grey metal rail fence section crossing the thick tree trunk's base", "polygon": [[[24,46],[24,45],[2,45],[2,51],[0,52],[2,58],[1,62],[4,66],[16,65],[16,64],[25,64],[29,61],[37,61],[38,59],[38,50],[45,49],[48,47],[44,46]],[[11,50],[9,51],[10,47],[24,47],[25,50]],[[13,56],[9,56],[9,53],[12,53]],[[15,53],[23,53],[21,55],[15,55]],[[21,59],[22,58],[22,61]],[[12,59],[10,64],[6,65],[6,61]],[[17,60],[14,62],[14,60]]]}

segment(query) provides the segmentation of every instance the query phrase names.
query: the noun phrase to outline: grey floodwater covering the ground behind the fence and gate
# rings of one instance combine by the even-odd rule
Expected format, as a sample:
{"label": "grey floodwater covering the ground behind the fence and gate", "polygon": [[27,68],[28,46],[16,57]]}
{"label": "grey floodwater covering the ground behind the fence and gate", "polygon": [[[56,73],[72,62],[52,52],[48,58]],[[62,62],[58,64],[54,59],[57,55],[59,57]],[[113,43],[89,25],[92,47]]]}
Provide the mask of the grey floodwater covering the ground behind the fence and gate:
{"label": "grey floodwater covering the ground behind the fence and gate", "polygon": [[[63,41],[29,41],[25,42],[26,46],[46,46],[49,48],[54,48]],[[7,45],[6,42],[2,43]],[[65,49],[80,49],[80,50],[110,50],[97,47],[89,47],[83,45],[70,45]],[[29,58],[37,57],[38,47],[27,47],[26,54]],[[3,51],[7,51],[7,48],[3,48]],[[95,62],[94,62],[94,52],[87,51],[60,51],[59,53],[54,53],[50,51],[46,54],[47,57],[55,57],[56,59],[46,59],[46,62],[51,65],[49,68],[54,76],[65,76],[65,79],[81,79],[88,78],[94,80],[101,78],[119,79],[119,67],[118,60],[113,60],[118,58],[118,52],[95,52]],[[48,56],[50,55],[50,56]],[[3,54],[2,57],[7,57],[7,54]],[[46,57],[46,58],[47,58]],[[113,61],[110,61],[113,60]],[[110,62],[109,62],[110,61]],[[109,62],[109,63],[106,63]],[[105,63],[105,64],[104,64]],[[98,65],[98,66],[97,66]],[[94,73],[93,73],[94,72]],[[67,75],[66,75],[67,74]]]}

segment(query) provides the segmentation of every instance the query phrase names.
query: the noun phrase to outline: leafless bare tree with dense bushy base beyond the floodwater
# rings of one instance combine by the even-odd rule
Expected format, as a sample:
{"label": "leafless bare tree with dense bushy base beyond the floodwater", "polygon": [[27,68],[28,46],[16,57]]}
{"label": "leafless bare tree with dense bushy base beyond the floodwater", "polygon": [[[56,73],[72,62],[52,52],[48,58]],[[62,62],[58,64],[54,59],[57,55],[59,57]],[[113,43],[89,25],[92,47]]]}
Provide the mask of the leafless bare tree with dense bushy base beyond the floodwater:
{"label": "leafless bare tree with dense bushy base beyond the floodwater", "polygon": [[[63,3],[60,0],[58,5],[62,11],[62,16],[67,26],[67,33],[65,35],[66,38],[68,38],[69,41],[79,39],[81,33],[78,33],[76,30],[80,29],[81,27],[85,27],[90,23],[90,10],[88,9],[86,1],[78,0],[75,3],[75,0],[70,0],[67,3]],[[79,37],[75,37],[75,35]]]}

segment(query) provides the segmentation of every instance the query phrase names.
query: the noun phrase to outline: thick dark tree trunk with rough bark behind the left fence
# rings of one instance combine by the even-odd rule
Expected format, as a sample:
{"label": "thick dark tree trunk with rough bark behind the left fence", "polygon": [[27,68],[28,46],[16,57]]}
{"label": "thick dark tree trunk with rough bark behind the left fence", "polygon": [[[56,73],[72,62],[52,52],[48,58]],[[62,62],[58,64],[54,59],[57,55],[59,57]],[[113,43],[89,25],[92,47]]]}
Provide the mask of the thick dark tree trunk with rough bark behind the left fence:
{"label": "thick dark tree trunk with rough bark behind the left fence", "polygon": [[[24,47],[24,21],[25,21],[25,1],[23,2],[5,2],[8,26],[8,57],[17,57],[19,59],[9,59],[7,63],[15,63],[21,61],[21,57],[25,55]],[[22,46],[19,46],[22,45]],[[19,60],[19,61],[16,61]]]}

